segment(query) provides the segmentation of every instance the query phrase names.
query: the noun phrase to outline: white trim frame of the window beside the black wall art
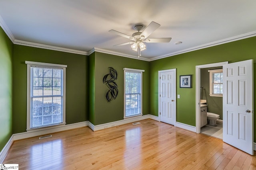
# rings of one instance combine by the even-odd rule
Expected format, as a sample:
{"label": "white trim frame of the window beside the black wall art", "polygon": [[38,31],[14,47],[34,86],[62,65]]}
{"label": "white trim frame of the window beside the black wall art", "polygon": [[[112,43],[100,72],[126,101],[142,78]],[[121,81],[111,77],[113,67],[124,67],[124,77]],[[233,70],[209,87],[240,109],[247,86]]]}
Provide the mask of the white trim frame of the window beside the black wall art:
{"label": "white trim frame of the window beside the black wall art", "polygon": [[[126,72],[138,72],[141,73],[140,74],[140,114],[139,115],[132,115],[132,116],[128,116],[126,117],[126,94],[125,94],[125,73]],[[134,69],[134,68],[124,68],[124,119],[129,119],[131,117],[138,117],[138,116],[142,116],[142,72],[145,72],[145,70],[139,70],[139,69]]]}

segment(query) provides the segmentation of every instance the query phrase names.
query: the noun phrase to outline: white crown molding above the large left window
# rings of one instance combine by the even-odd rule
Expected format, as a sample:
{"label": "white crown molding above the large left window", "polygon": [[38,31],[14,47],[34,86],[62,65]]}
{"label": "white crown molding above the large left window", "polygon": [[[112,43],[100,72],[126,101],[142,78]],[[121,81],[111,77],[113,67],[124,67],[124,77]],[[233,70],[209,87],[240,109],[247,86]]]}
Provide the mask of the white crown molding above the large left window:
{"label": "white crown molding above the large left window", "polygon": [[73,49],[66,49],[66,48],[62,48],[62,47],[55,47],[55,46],[51,46],[51,45],[31,43],[31,42],[28,42],[28,41],[14,40],[14,44],[25,45],[25,46],[29,46],[29,47],[37,47],[37,48],[41,48],[41,49],[50,49],[50,50],[55,50],[55,51],[62,51],[62,52],[66,52],[66,53],[88,55],[88,52],[86,52],[86,51],[79,51],[79,50],[73,50]]}

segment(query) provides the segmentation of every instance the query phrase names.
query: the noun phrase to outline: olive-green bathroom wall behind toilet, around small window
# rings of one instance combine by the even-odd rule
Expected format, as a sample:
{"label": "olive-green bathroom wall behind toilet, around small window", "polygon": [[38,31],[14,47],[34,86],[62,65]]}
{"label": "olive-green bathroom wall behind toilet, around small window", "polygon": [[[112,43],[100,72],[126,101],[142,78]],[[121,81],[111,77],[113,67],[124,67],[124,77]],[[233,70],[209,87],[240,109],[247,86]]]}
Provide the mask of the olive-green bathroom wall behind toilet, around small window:
{"label": "olive-green bathroom wall behind toilet, around small window", "polygon": [[201,69],[201,99],[207,101],[207,111],[216,113],[220,115],[220,119],[222,120],[222,97],[213,97],[210,96],[210,74],[208,70],[220,69],[222,67],[211,67],[211,68],[202,68]]}

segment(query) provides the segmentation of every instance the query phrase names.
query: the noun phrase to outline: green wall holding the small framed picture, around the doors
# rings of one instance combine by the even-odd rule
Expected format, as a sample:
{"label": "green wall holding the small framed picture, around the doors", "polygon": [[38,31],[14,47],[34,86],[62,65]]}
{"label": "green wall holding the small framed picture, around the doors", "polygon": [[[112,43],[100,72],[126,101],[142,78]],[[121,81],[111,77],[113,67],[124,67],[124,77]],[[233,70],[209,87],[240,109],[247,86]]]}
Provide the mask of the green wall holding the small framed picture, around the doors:
{"label": "green wall holding the small framed picture, around the doors", "polygon": [[[192,51],[150,62],[150,113],[158,115],[158,70],[177,68],[180,75],[192,74],[192,88],[179,88],[177,81],[177,121],[188,125],[196,125],[196,65],[228,61],[234,63],[254,59],[256,61],[256,37],[242,39],[231,43],[217,45],[206,49]],[[256,64],[254,64],[254,67]],[[256,87],[256,69],[254,69],[254,89]],[[254,95],[255,95],[254,90]],[[254,118],[255,122],[255,118]],[[254,126],[254,136],[255,133]],[[255,141],[255,140],[254,140]]]}

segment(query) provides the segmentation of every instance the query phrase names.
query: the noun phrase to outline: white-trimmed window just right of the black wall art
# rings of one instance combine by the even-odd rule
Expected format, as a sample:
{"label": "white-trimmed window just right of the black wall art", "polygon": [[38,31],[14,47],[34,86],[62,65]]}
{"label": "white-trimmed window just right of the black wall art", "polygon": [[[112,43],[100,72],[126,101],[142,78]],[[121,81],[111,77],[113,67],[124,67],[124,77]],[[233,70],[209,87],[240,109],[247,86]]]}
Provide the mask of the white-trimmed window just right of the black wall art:
{"label": "white-trimmed window just right of the black wall art", "polygon": [[124,68],[124,118],[142,115],[142,72]]}

